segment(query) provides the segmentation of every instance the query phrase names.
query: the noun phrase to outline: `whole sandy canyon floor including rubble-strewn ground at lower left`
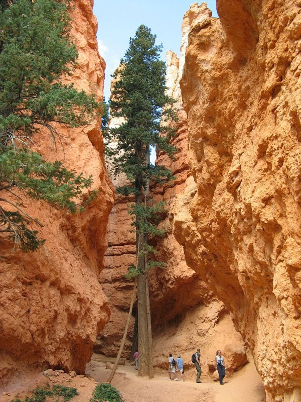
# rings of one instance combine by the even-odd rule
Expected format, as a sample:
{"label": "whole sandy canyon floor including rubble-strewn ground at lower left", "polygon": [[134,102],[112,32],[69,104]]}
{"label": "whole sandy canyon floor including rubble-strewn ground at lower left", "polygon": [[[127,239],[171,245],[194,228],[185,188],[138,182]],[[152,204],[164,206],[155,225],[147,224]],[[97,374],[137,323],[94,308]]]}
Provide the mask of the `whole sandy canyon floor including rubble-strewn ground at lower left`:
{"label": "whole sandy canyon floor including rubble-strewn ground at lower left", "polygon": [[[32,372],[19,375],[10,385],[0,388],[0,402],[10,402],[15,397],[24,399],[30,395],[36,386],[46,383],[61,384],[77,388],[79,395],[73,402],[89,402],[97,382],[105,382],[110,370],[105,369],[105,363],[93,360],[87,364],[86,376],[71,378],[63,373],[58,377],[45,377],[43,373]],[[202,380],[202,378],[201,378]],[[252,359],[238,373],[229,377],[225,385],[203,379],[201,384],[186,379],[169,381],[166,375],[156,374],[153,379],[138,377],[134,366],[118,366],[112,380],[121,393],[124,402],[265,402],[265,393],[261,379],[255,369]],[[3,392],[10,392],[4,395]]]}

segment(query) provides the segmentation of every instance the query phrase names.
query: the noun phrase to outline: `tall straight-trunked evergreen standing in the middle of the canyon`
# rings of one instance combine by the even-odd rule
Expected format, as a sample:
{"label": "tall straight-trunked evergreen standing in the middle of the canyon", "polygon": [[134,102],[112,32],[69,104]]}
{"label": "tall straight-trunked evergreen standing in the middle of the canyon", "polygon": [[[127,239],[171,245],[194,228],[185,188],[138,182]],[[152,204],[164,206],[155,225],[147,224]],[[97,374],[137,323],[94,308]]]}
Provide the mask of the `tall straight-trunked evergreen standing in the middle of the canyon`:
{"label": "tall straight-trunked evergreen standing in the middle of the canyon", "polygon": [[174,100],[166,94],[166,65],[159,60],[162,45],[155,45],[156,36],[141,25],[115,71],[110,102],[111,116],[123,117],[124,123],[107,129],[108,141],[117,143],[108,149],[113,159],[115,174],[125,173],[129,184],[117,189],[123,195],[134,194],[135,203],[129,209],[136,230],[136,266],[129,267],[129,276],[137,277],[138,298],[138,374],[153,377],[152,328],[150,322],[147,271],[163,263],[150,261],[148,254],[155,253],[149,238],[164,231],[157,225],[164,212],[162,203],[154,204],[149,183],[155,185],[169,181],[170,170],[150,163],[150,146],[165,151],[169,156],[175,148],[169,143],[174,129],[168,122],[175,120]]}

